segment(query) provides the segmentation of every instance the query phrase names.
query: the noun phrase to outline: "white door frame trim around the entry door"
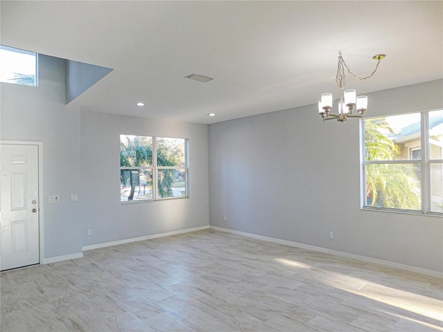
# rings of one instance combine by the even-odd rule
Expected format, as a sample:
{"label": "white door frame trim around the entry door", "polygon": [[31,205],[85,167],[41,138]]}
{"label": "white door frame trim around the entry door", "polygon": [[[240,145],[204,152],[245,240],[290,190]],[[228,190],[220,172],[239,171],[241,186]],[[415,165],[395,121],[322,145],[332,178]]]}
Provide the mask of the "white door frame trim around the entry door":
{"label": "white door frame trim around the entry door", "polygon": [[43,142],[31,140],[0,140],[1,145],[37,145],[39,174],[39,264],[44,264],[44,221],[43,221]]}

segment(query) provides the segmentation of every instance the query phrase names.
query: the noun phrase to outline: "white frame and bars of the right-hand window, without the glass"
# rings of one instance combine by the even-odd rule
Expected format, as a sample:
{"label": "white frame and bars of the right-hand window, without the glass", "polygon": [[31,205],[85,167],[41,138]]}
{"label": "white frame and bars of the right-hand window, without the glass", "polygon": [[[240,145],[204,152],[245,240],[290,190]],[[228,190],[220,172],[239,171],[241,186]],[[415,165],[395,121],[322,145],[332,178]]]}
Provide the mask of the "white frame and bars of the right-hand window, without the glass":
{"label": "white frame and bars of the right-hand window, without the glass", "polygon": [[[428,111],[417,111],[410,113],[420,113],[420,133],[421,133],[421,160],[366,160],[365,156],[365,127],[364,120],[370,118],[361,119],[361,135],[360,135],[360,149],[361,149],[361,209],[362,210],[376,210],[386,212],[398,212],[398,213],[413,213],[413,214],[428,214],[434,216],[443,216],[443,212],[431,211],[431,165],[443,164],[443,159],[431,159],[429,154],[429,113],[432,111],[440,111],[441,109],[432,109]],[[408,114],[408,113],[404,113]],[[400,116],[402,113],[389,114],[388,116]],[[371,118],[383,118],[383,116],[374,116]],[[408,151],[412,156],[412,150]],[[418,164],[421,169],[421,192],[422,192],[422,210],[405,210],[398,208],[385,208],[379,206],[366,205],[366,165],[414,165]]]}

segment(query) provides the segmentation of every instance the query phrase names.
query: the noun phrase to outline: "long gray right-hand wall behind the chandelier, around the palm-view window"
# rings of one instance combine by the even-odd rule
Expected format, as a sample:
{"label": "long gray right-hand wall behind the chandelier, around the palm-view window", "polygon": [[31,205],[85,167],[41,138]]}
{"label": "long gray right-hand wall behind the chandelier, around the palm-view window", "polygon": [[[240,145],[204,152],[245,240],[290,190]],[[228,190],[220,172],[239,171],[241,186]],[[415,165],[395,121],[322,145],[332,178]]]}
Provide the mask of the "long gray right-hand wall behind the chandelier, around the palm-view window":
{"label": "long gray right-hand wall behind the chandelier, around the palm-view window", "polygon": [[[368,116],[441,108],[442,82],[371,93]],[[359,135],[316,105],[210,124],[210,225],[442,272],[441,217],[360,209]]]}

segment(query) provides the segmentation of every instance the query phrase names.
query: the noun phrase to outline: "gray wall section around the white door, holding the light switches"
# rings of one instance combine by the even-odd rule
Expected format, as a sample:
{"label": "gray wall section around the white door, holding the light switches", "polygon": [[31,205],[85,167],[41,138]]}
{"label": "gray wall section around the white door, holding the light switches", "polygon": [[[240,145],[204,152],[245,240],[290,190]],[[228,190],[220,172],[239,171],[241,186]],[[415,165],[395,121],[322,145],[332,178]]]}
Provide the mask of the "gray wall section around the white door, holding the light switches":
{"label": "gray wall section around the white door, holding the light switches", "polygon": [[[63,59],[39,55],[39,86],[1,83],[1,140],[43,142],[44,258],[82,251],[80,109],[66,107]],[[60,203],[48,204],[59,195]]]}

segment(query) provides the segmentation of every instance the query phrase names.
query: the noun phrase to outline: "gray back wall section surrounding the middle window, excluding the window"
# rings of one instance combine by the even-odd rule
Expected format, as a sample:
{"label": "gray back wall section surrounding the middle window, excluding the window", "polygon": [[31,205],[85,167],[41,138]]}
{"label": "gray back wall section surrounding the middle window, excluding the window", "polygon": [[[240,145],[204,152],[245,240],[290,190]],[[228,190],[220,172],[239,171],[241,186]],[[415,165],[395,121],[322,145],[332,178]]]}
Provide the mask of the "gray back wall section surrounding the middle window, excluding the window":
{"label": "gray back wall section surrounding the middle window, excluding the window", "polygon": [[[206,124],[88,111],[82,111],[81,123],[84,245],[208,225]],[[120,133],[188,138],[190,198],[120,204]]]}

